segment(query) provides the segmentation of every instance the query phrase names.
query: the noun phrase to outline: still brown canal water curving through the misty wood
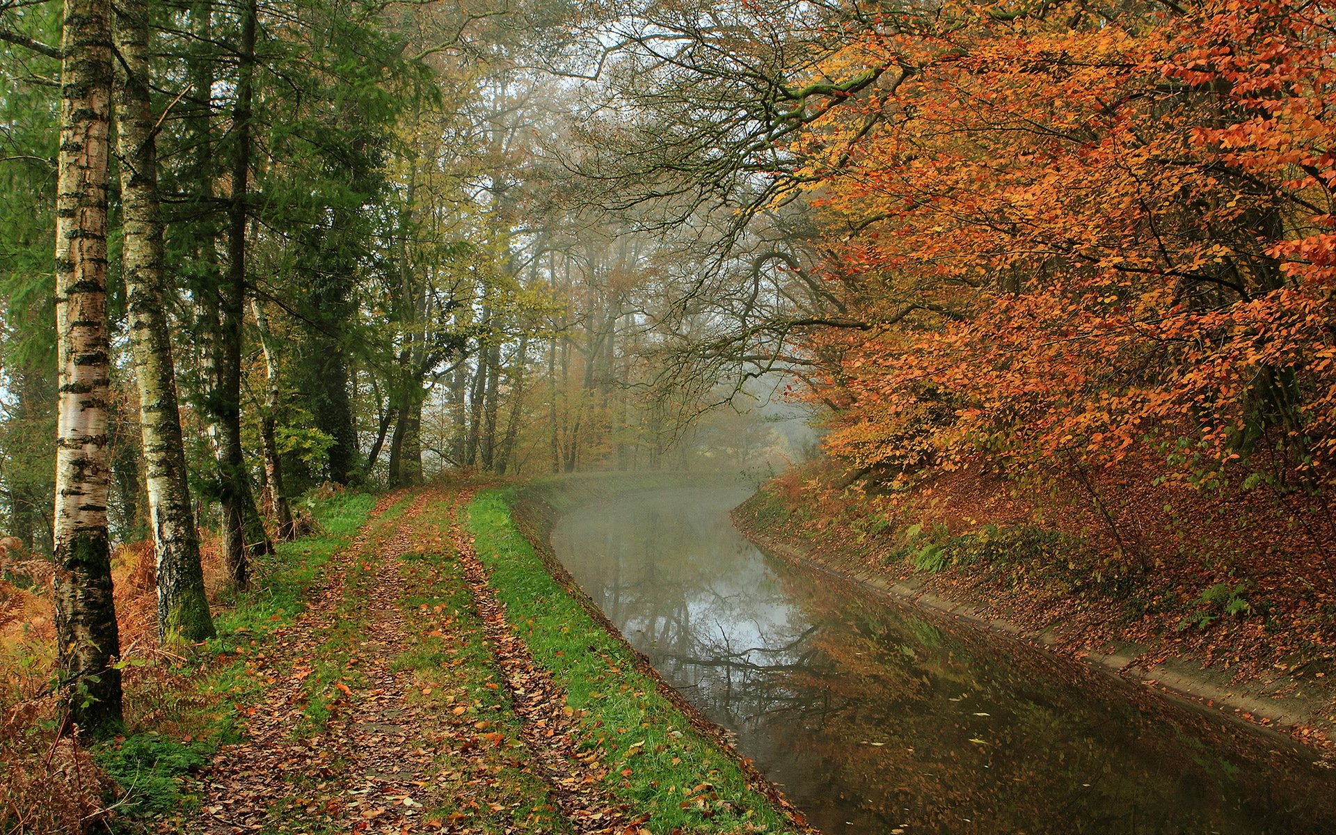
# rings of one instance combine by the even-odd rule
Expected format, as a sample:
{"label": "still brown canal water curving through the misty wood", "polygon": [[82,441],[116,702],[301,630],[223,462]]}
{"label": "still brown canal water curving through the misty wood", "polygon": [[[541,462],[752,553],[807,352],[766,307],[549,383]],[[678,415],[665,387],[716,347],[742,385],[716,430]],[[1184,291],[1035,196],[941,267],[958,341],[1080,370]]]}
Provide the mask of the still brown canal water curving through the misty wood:
{"label": "still brown canal water curving through the misty wood", "polygon": [[1336,832],[1312,754],[774,560],[663,490],[577,510],[557,557],[826,832]]}

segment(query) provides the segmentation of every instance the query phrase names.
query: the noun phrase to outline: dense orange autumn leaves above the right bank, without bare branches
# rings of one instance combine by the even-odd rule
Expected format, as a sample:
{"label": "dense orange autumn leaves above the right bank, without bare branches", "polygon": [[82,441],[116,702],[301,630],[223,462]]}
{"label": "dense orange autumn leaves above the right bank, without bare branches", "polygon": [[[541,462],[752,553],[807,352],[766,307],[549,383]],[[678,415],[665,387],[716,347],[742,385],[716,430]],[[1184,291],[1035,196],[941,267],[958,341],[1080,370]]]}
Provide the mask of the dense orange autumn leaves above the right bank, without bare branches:
{"label": "dense orange autumn leaves above the right bank, without bare branches", "polygon": [[870,326],[807,345],[831,452],[1336,481],[1332,7],[1120,8],[949,3],[830,61],[896,79],[794,148]]}

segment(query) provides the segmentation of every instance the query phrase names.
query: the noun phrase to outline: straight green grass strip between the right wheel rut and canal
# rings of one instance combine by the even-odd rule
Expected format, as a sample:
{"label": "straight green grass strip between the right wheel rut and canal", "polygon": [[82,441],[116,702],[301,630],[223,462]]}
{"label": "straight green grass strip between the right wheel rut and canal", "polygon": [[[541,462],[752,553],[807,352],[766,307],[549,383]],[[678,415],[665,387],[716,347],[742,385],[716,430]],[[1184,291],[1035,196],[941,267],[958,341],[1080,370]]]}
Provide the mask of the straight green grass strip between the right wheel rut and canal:
{"label": "straight green grass strip between the right wheel rut and canal", "polygon": [[478,558],[534,660],[566,688],[587,754],[609,766],[613,795],[648,814],[655,832],[791,832],[741,768],[697,733],[636,669],[609,635],[548,572],[510,518],[509,490],[480,493],[468,508]]}

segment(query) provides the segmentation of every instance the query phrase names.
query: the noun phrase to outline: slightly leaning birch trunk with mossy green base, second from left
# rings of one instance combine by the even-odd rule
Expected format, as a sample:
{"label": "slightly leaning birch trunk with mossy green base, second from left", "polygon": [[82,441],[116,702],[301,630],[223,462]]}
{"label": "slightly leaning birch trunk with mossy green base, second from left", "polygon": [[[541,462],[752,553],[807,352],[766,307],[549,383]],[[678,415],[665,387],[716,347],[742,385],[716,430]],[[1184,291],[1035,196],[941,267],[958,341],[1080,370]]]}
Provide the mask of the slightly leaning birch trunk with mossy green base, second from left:
{"label": "slightly leaning birch trunk with mossy green base, second from left", "polygon": [[116,8],[123,81],[116,111],[130,341],[139,386],[148,517],[158,562],[158,637],[212,637],[199,530],[190,500],[167,322],[163,227],[158,216],[158,147],[148,99],[148,3]]}

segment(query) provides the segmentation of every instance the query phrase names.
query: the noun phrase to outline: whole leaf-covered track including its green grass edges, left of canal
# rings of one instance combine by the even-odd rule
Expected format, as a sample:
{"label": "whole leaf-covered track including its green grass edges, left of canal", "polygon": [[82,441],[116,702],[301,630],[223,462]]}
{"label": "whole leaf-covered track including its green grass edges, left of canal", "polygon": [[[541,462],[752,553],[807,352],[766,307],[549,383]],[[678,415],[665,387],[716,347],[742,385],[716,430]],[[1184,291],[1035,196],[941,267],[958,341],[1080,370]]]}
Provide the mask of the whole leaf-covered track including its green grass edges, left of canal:
{"label": "whole leaf-covered track including its green grass edges, left of canal", "polygon": [[[804,831],[548,574],[502,494],[379,497],[327,560],[297,566],[305,592],[281,568],[269,605],[262,581],[244,617],[220,619],[192,684],[204,729],[107,758],[135,810],[120,827]],[[144,803],[135,783],[163,779],[162,751],[188,755],[183,774],[170,803]]]}

